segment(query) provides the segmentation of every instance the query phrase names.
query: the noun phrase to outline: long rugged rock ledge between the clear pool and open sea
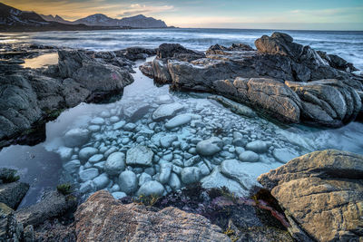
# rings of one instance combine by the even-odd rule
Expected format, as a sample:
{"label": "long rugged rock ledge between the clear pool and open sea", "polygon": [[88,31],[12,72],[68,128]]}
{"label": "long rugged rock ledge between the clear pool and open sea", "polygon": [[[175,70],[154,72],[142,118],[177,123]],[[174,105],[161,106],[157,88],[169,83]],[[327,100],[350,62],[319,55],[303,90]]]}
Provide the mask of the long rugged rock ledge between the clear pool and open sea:
{"label": "long rugged rock ledge between the clear pool and open sea", "polygon": [[140,70],[172,89],[217,93],[286,123],[335,128],[356,119],[363,78],[353,64],[294,43],[288,34],[264,35],[255,45],[216,44],[204,56],[162,44],[159,52],[168,54]]}

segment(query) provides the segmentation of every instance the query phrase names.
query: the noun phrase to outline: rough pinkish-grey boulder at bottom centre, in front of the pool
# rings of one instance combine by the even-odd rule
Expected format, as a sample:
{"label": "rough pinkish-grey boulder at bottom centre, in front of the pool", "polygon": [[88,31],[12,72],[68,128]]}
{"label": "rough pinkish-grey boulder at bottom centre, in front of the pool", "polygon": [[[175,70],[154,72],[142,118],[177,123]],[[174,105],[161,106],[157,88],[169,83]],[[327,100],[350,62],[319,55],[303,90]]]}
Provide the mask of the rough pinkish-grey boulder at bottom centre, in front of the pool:
{"label": "rough pinkish-grey boulder at bottom centre, in front of the pool", "polygon": [[178,208],[123,205],[101,190],[75,213],[77,241],[231,241],[221,228]]}

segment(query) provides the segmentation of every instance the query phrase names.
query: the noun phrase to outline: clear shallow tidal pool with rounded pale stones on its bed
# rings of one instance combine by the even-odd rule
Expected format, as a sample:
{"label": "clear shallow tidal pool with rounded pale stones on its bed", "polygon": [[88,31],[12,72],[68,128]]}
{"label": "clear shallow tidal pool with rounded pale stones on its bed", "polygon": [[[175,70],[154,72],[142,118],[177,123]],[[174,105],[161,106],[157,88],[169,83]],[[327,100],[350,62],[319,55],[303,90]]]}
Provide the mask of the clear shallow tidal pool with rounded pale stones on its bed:
{"label": "clear shallow tidal pool with rounded pale stones on its bed", "polygon": [[[0,152],[0,166],[19,169],[22,180],[31,184],[22,206],[34,203],[45,189],[61,182],[74,183],[84,197],[97,189],[108,189],[115,197],[123,196],[123,192],[137,195],[151,180],[162,184],[164,194],[200,180],[206,187],[227,186],[243,196],[261,173],[293,157],[325,149],[363,154],[362,123],[352,122],[336,130],[282,127],[237,115],[208,99],[208,94],[170,92],[168,85],[158,87],[143,76],[138,66],[134,70],[135,82],[124,89],[120,101],[82,103],[46,124],[43,143],[12,146]],[[155,111],[160,112],[166,103],[173,103],[174,108],[177,105],[178,111],[155,121]],[[183,124],[170,128],[172,116],[181,117]],[[219,150],[211,156],[198,155],[197,144],[211,137],[221,140]],[[244,153],[253,145],[255,148],[248,149],[256,151],[257,160]],[[141,146],[146,150],[140,151]],[[135,148],[139,153],[133,159],[136,164],[131,164],[128,151]],[[123,164],[113,172],[104,165],[114,152],[123,153],[119,157]],[[221,168],[224,160],[240,161],[232,168],[235,170],[226,170],[228,166]],[[232,171],[238,179],[233,178]]]}

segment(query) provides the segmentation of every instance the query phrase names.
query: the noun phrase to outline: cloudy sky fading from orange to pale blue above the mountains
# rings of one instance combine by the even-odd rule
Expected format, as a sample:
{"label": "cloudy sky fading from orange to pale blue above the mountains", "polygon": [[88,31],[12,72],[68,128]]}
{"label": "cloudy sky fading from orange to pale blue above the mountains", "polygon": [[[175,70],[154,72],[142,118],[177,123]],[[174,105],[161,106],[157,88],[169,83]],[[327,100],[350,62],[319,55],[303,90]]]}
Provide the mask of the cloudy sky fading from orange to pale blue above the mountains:
{"label": "cloudy sky fading from orange to pale blue above the mountains", "polygon": [[196,28],[363,30],[363,0],[0,0],[21,10],[76,20],[147,15]]}

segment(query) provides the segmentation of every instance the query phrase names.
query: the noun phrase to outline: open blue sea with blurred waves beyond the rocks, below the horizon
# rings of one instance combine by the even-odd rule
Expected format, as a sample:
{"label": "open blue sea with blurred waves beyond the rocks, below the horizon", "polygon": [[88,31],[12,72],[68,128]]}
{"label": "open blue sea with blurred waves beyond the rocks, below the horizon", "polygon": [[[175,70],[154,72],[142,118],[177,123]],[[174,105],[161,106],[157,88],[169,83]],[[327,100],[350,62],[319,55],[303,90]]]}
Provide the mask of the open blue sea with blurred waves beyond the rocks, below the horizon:
{"label": "open blue sea with blurred waves beyond the rocks, below the horizon", "polygon": [[83,48],[94,51],[114,51],[131,46],[156,48],[163,43],[178,43],[198,51],[212,44],[230,46],[243,43],[254,47],[261,35],[273,32],[290,34],[299,44],[327,53],[338,54],[358,69],[363,69],[362,31],[305,31],[305,30],[253,30],[253,29],[134,29],[111,31],[69,31],[1,34],[1,43],[34,43],[62,47]]}

